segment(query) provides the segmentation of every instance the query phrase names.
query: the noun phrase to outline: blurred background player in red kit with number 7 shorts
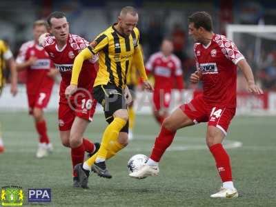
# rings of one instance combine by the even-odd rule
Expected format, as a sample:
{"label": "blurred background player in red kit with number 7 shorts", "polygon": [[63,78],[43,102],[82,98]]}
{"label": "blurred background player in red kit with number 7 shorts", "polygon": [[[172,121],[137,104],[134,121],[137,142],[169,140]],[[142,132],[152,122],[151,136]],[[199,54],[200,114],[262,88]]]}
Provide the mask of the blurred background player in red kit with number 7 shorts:
{"label": "blurred background player in red kit with number 7 shorts", "polygon": [[34,40],[23,43],[16,59],[17,70],[27,71],[29,113],[34,117],[34,126],[39,134],[37,158],[46,157],[48,152],[52,152],[43,108],[48,105],[54,78],[58,73],[48,53],[38,43],[39,36],[45,32],[47,32],[46,21],[35,21],[32,28]]}

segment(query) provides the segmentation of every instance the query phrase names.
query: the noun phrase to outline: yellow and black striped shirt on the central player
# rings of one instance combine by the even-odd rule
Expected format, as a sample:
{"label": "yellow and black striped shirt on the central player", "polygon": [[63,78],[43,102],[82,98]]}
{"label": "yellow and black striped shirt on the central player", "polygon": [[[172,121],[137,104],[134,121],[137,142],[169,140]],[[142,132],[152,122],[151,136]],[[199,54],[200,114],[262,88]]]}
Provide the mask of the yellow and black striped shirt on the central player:
{"label": "yellow and black striped shirt on the central player", "polygon": [[139,30],[134,28],[128,36],[120,34],[115,25],[101,32],[88,46],[93,55],[99,54],[99,71],[94,86],[115,84],[126,87],[126,77],[132,65],[132,59],[139,62],[139,72],[146,80],[144,61],[139,47]]}

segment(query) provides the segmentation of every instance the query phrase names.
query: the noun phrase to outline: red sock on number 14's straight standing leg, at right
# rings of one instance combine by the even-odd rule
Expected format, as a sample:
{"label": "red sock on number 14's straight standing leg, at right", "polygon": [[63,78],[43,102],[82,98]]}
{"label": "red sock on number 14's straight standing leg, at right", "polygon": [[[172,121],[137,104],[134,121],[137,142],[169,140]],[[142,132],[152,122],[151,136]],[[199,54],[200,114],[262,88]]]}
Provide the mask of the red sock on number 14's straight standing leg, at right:
{"label": "red sock on number 14's straight standing leg, at right", "polygon": [[221,144],[214,144],[213,146],[210,146],[209,149],[215,158],[217,171],[219,172],[221,181],[232,181],[230,157],[226,150],[224,150],[224,147]]}

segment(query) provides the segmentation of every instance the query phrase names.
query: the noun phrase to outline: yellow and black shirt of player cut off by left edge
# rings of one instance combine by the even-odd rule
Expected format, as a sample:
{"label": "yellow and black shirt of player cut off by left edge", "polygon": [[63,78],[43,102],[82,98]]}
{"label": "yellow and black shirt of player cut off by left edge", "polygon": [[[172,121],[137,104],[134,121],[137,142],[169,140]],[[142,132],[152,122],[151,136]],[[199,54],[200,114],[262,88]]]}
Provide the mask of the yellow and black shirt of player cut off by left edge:
{"label": "yellow and black shirt of player cut off by left edge", "polygon": [[10,51],[10,48],[5,41],[0,40],[0,92],[6,82],[6,77],[3,75],[3,70],[6,69],[6,60],[11,57],[12,52]]}

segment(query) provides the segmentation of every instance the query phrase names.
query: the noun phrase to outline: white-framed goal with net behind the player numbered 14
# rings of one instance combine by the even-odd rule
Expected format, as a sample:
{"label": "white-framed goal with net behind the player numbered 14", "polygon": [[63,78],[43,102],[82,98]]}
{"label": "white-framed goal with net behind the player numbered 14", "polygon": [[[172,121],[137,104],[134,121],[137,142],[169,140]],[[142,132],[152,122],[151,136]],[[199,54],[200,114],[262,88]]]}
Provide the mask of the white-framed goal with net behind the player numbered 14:
{"label": "white-framed goal with net behind the player numbered 14", "polygon": [[[257,83],[266,90],[274,90],[276,81],[276,26],[265,25],[228,25],[226,36],[235,42],[253,69]],[[268,112],[270,95],[253,96],[246,94],[247,84],[238,70],[237,77],[237,111]]]}

